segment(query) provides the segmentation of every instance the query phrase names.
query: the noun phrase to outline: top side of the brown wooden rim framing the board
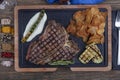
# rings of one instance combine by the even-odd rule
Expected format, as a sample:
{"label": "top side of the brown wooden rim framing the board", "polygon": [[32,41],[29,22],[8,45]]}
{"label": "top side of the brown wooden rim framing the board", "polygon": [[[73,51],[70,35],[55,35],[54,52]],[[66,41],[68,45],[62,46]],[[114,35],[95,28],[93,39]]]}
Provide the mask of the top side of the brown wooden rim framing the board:
{"label": "top side of the brown wooden rim framing the board", "polygon": [[19,9],[74,9],[74,8],[88,8],[88,7],[110,8],[110,5],[109,4],[100,4],[100,5],[22,5],[22,6],[16,6],[16,10],[19,10]]}

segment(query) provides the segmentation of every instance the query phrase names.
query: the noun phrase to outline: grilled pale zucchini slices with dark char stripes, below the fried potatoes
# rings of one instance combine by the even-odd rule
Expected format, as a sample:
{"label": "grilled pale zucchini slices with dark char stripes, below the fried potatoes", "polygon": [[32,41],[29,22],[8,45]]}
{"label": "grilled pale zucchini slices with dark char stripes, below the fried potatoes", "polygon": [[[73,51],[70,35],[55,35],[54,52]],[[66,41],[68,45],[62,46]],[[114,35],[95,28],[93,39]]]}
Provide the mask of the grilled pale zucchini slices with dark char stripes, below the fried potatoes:
{"label": "grilled pale zucchini slices with dark char stripes, below the fried potatoes", "polygon": [[79,60],[83,64],[87,64],[90,60],[94,63],[101,63],[103,61],[103,56],[97,45],[92,43],[86,47],[86,50],[80,55]]}

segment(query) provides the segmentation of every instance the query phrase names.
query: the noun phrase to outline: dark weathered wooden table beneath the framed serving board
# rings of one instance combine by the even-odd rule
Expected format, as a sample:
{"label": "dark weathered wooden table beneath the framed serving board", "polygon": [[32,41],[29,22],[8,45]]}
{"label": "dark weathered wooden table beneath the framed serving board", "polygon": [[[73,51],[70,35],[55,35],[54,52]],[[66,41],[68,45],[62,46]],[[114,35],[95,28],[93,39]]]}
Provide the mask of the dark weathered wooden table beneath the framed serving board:
{"label": "dark weathered wooden table beneath the framed serving board", "polygon": [[[45,0],[17,1],[18,5],[46,4]],[[120,9],[120,0],[106,0],[103,4],[110,4],[113,10]],[[0,66],[0,80],[120,80],[120,71],[112,70],[109,72],[72,72],[69,69],[61,68],[56,72],[18,73],[14,70],[14,67],[5,68]]]}

